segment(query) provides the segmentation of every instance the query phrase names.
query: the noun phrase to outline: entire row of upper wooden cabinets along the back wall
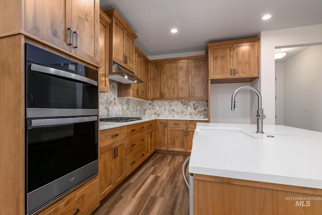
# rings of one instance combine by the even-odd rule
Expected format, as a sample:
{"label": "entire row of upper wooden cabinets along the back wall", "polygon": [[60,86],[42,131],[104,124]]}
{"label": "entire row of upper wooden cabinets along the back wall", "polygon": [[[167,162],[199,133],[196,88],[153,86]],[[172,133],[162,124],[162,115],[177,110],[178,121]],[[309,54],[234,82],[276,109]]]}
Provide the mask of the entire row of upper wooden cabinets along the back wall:
{"label": "entire row of upper wooden cabinets along the back wall", "polygon": [[150,61],[150,99],[207,99],[207,56]]}

